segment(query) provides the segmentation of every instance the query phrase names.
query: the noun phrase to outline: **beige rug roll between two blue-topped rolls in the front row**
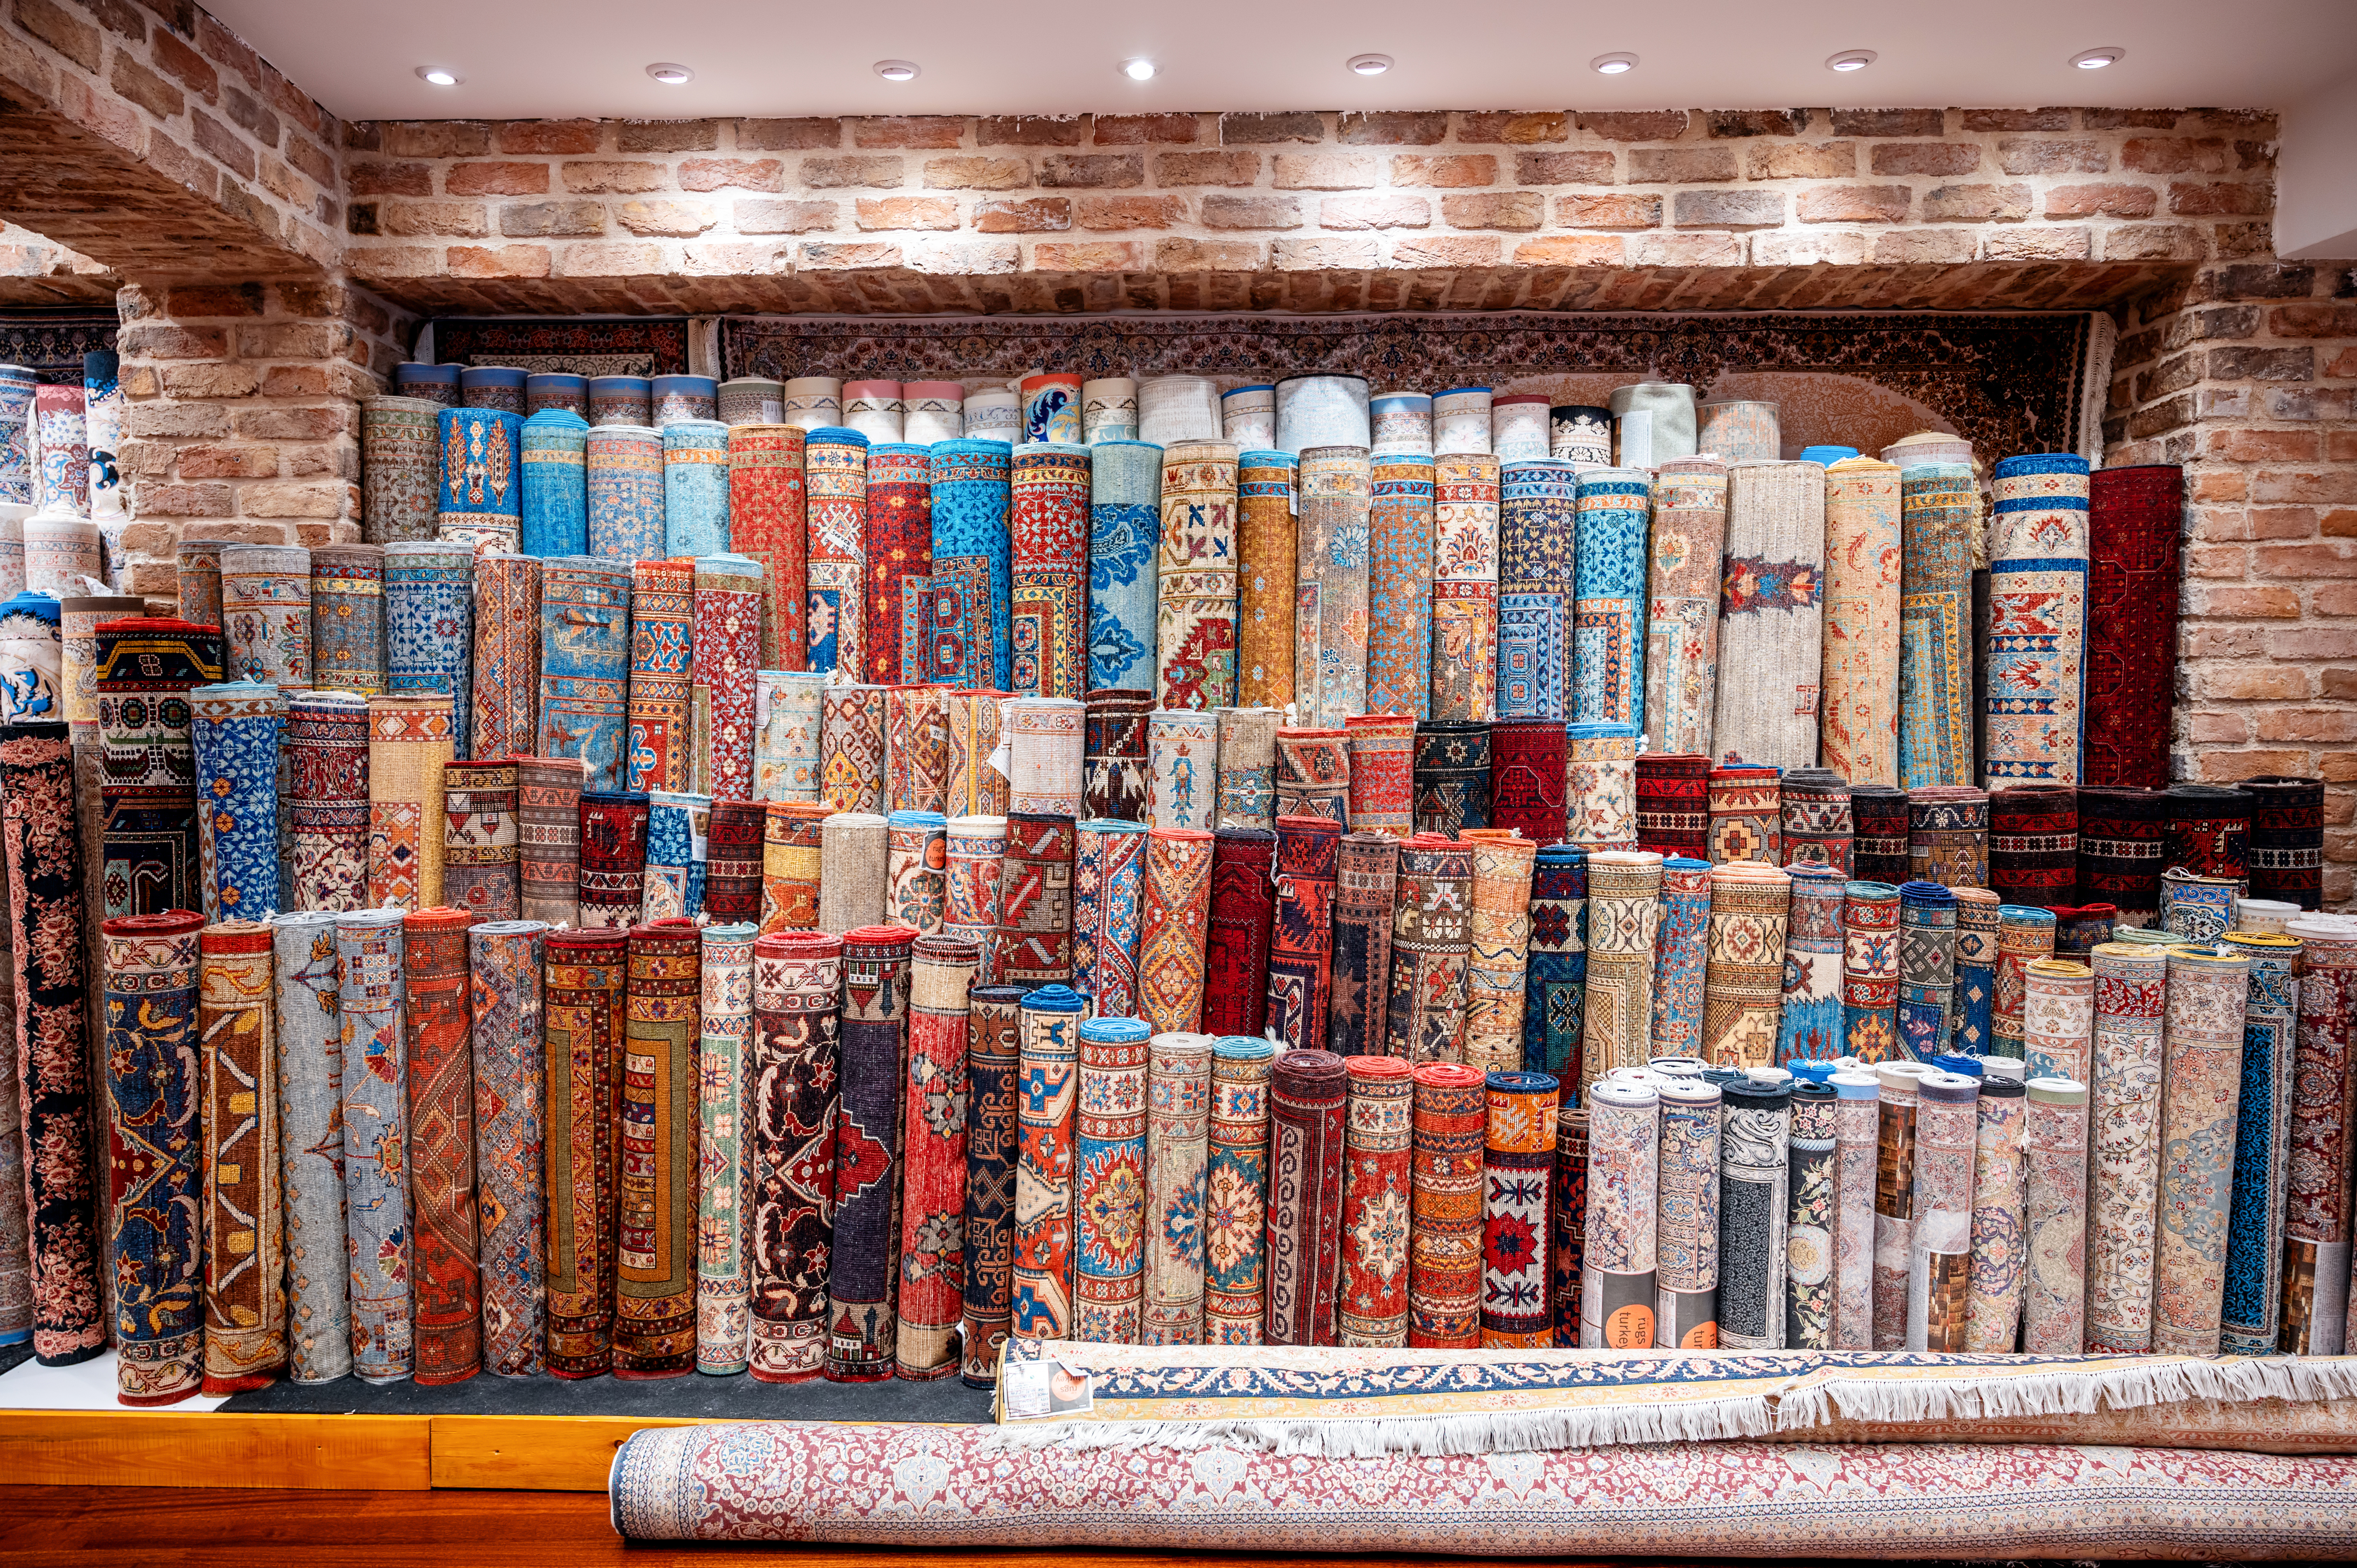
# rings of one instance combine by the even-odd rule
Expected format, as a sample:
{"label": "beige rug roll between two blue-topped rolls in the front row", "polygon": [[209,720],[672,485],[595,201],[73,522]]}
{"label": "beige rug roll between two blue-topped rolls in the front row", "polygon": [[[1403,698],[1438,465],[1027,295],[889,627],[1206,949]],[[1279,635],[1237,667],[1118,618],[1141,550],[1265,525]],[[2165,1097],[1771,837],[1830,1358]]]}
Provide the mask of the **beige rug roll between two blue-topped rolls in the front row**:
{"label": "beige rug roll between two blue-topped rolls in the front row", "polygon": [[1204,1342],[1209,1132],[1211,1035],[1155,1035],[1146,1049],[1146,1278],[1136,1344]]}

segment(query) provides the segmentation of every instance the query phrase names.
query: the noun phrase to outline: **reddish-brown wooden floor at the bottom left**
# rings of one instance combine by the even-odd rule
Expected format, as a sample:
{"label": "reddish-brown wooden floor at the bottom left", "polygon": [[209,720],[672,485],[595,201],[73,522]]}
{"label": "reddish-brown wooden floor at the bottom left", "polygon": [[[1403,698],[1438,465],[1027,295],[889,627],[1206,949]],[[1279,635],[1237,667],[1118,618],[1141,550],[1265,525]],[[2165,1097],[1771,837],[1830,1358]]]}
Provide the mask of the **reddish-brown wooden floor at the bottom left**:
{"label": "reddish-brown wooden floor at the bottom left", "polygon": [[[785,1563],[792,1568],[1268,1568],[1277,1556],[1167,1551],[940,1551],[874,1547],[646,1547],[625,1544],[601,1493],[290,1493],[0,1485],[0,1563],[125,1563],[137,1568],[669,1568],[674,1563]],[[1365,1556],[1310,1559],[1374,1568]],[[1475,1559],[1419,1559],[1428,1563]],[[1494,1561],[1494,1559],[1480,1559]],[[1577,1559],[1518,1559],[1572,1568]],[[1579,1563],[1589,1568],[1589,1563]]]}

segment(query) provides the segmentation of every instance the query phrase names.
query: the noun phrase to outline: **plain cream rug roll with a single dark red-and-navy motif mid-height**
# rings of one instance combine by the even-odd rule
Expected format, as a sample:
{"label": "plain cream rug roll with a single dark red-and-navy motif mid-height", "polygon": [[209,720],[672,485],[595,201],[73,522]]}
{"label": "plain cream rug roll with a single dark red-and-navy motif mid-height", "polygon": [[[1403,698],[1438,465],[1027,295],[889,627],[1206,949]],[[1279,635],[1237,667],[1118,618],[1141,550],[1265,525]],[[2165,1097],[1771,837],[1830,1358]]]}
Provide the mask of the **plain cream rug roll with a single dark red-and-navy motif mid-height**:
{"label": "plain cream rug roll with a single dark red-and-navy motif mid-height", "polygon": [[1824,665],[1824,469],[1744,462],[1728,474],[1728,564],[1718,604],[1711,745],[1725,757],[1805,769],[1817,762]]}

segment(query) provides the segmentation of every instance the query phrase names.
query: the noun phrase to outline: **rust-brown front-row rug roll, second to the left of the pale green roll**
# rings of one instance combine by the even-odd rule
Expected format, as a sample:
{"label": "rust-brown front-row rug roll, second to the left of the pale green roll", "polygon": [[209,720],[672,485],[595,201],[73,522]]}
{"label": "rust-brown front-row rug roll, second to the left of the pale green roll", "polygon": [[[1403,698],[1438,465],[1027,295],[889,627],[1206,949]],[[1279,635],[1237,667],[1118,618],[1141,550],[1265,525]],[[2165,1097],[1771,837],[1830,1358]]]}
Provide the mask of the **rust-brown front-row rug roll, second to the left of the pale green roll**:
{"label": "rust-brown front-row rug roll, second to the left of the pale green roll", "polygon": [[[625,931],[549,931],[542,938],[552,1377],[603,1377],[613,1370],[620,1257],[613,1118],[622,1080],[627,946]],[[832,1021],[832,1007],[827,1016]]]}

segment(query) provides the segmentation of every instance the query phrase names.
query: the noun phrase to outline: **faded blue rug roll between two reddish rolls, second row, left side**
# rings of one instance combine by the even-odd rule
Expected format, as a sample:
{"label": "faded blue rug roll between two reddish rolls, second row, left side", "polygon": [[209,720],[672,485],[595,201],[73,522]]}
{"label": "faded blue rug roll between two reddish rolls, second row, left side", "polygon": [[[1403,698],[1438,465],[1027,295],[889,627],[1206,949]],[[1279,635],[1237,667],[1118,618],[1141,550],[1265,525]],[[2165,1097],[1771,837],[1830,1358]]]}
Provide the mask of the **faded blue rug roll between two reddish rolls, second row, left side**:
{"label": "faded blue rug roll between two reddish rolls, second row, left side", "polygon": [[568,556],[540,568],[540,755],[580,757],[585,788],[622,785],[629,714],[629,568]]}

